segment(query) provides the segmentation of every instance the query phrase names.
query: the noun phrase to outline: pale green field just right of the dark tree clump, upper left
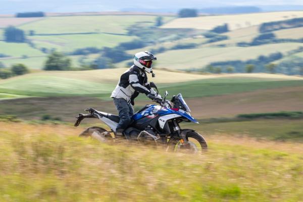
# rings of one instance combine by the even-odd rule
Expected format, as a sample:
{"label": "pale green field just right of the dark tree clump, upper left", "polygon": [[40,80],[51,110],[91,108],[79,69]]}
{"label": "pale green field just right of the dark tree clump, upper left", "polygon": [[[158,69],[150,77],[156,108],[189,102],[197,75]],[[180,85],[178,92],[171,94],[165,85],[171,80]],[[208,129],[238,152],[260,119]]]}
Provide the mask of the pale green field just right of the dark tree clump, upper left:
{"label": "pale green field just right of the dark tree clump, upper left", "polygon": [[77,34],[60,36],[32,36],[33,43],[41,48],[56,48],[58,51],[72,52],[83,47],[114,47],[121,42],[135,39],[133,36],[113,34]]}

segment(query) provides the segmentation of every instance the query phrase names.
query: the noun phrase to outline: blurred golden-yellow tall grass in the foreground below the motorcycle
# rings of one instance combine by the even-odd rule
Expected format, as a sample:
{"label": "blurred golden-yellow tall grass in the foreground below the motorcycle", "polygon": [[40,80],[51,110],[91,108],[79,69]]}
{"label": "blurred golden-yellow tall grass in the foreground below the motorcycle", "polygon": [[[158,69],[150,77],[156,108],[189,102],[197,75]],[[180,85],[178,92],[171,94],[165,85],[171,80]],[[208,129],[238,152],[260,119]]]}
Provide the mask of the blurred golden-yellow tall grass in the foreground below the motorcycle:
{"label": "blurred golden-yellow tall grass in the foreground below the motorcycle", "polygon": [[299,201],[302,145],[206,136],[203,155],[77,138],[82,128],[0,123],[2,201]]}

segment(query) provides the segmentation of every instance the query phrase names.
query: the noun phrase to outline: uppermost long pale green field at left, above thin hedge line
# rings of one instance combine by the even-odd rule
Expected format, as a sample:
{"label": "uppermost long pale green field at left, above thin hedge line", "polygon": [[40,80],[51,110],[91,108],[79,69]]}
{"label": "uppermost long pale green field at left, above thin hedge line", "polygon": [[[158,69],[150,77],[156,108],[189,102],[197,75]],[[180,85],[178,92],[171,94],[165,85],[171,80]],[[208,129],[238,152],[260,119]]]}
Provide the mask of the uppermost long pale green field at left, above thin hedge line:
{"label": "uppermost long pale green field at left, above thin hedge line", "polygon": [[[165,17],[165,20],[172,17]],[[19,28],[36,34],[109,32],[126,34],[126,28],[132,24],[144,22],[153,25],[156,16],[65,16],[47,17],[44,20],[21,25]]]}

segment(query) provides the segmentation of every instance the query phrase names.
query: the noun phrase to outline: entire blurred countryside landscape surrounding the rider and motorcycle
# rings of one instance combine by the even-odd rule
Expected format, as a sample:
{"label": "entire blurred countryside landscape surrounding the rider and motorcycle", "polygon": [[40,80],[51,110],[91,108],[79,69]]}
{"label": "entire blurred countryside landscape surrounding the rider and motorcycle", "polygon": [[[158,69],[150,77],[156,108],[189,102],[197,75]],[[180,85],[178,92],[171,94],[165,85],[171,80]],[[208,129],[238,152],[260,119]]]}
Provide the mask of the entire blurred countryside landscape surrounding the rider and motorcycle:
{"label": "entire blurred countryside landscape surrounding the rider and motorcycle", "polygon": [[[0,8],[0,201],[303,198],[302,5],[67,2]],[[200,124],[181,126],[204,135],[207,153],[77,137],[104,127],[72,126],[87,107],[117,114],[110,94],[145,50],[158,58],[148,80],[182,93]],[[135,111],[146,104],[140,95]]]}

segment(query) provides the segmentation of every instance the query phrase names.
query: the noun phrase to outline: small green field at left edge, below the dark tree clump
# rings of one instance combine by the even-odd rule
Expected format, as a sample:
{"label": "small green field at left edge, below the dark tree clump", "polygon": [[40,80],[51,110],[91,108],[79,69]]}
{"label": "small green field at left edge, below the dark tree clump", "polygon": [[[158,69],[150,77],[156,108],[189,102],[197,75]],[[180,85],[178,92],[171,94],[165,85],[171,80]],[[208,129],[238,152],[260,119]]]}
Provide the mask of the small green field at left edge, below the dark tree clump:
{"label": "small green field at left edge, below the dark tree clump", "polygon": [[22,56],[43,56],[44,54],[37,49],[30,47],[27,43],[7,43],[0,41],[0,53],[11,57]]}

